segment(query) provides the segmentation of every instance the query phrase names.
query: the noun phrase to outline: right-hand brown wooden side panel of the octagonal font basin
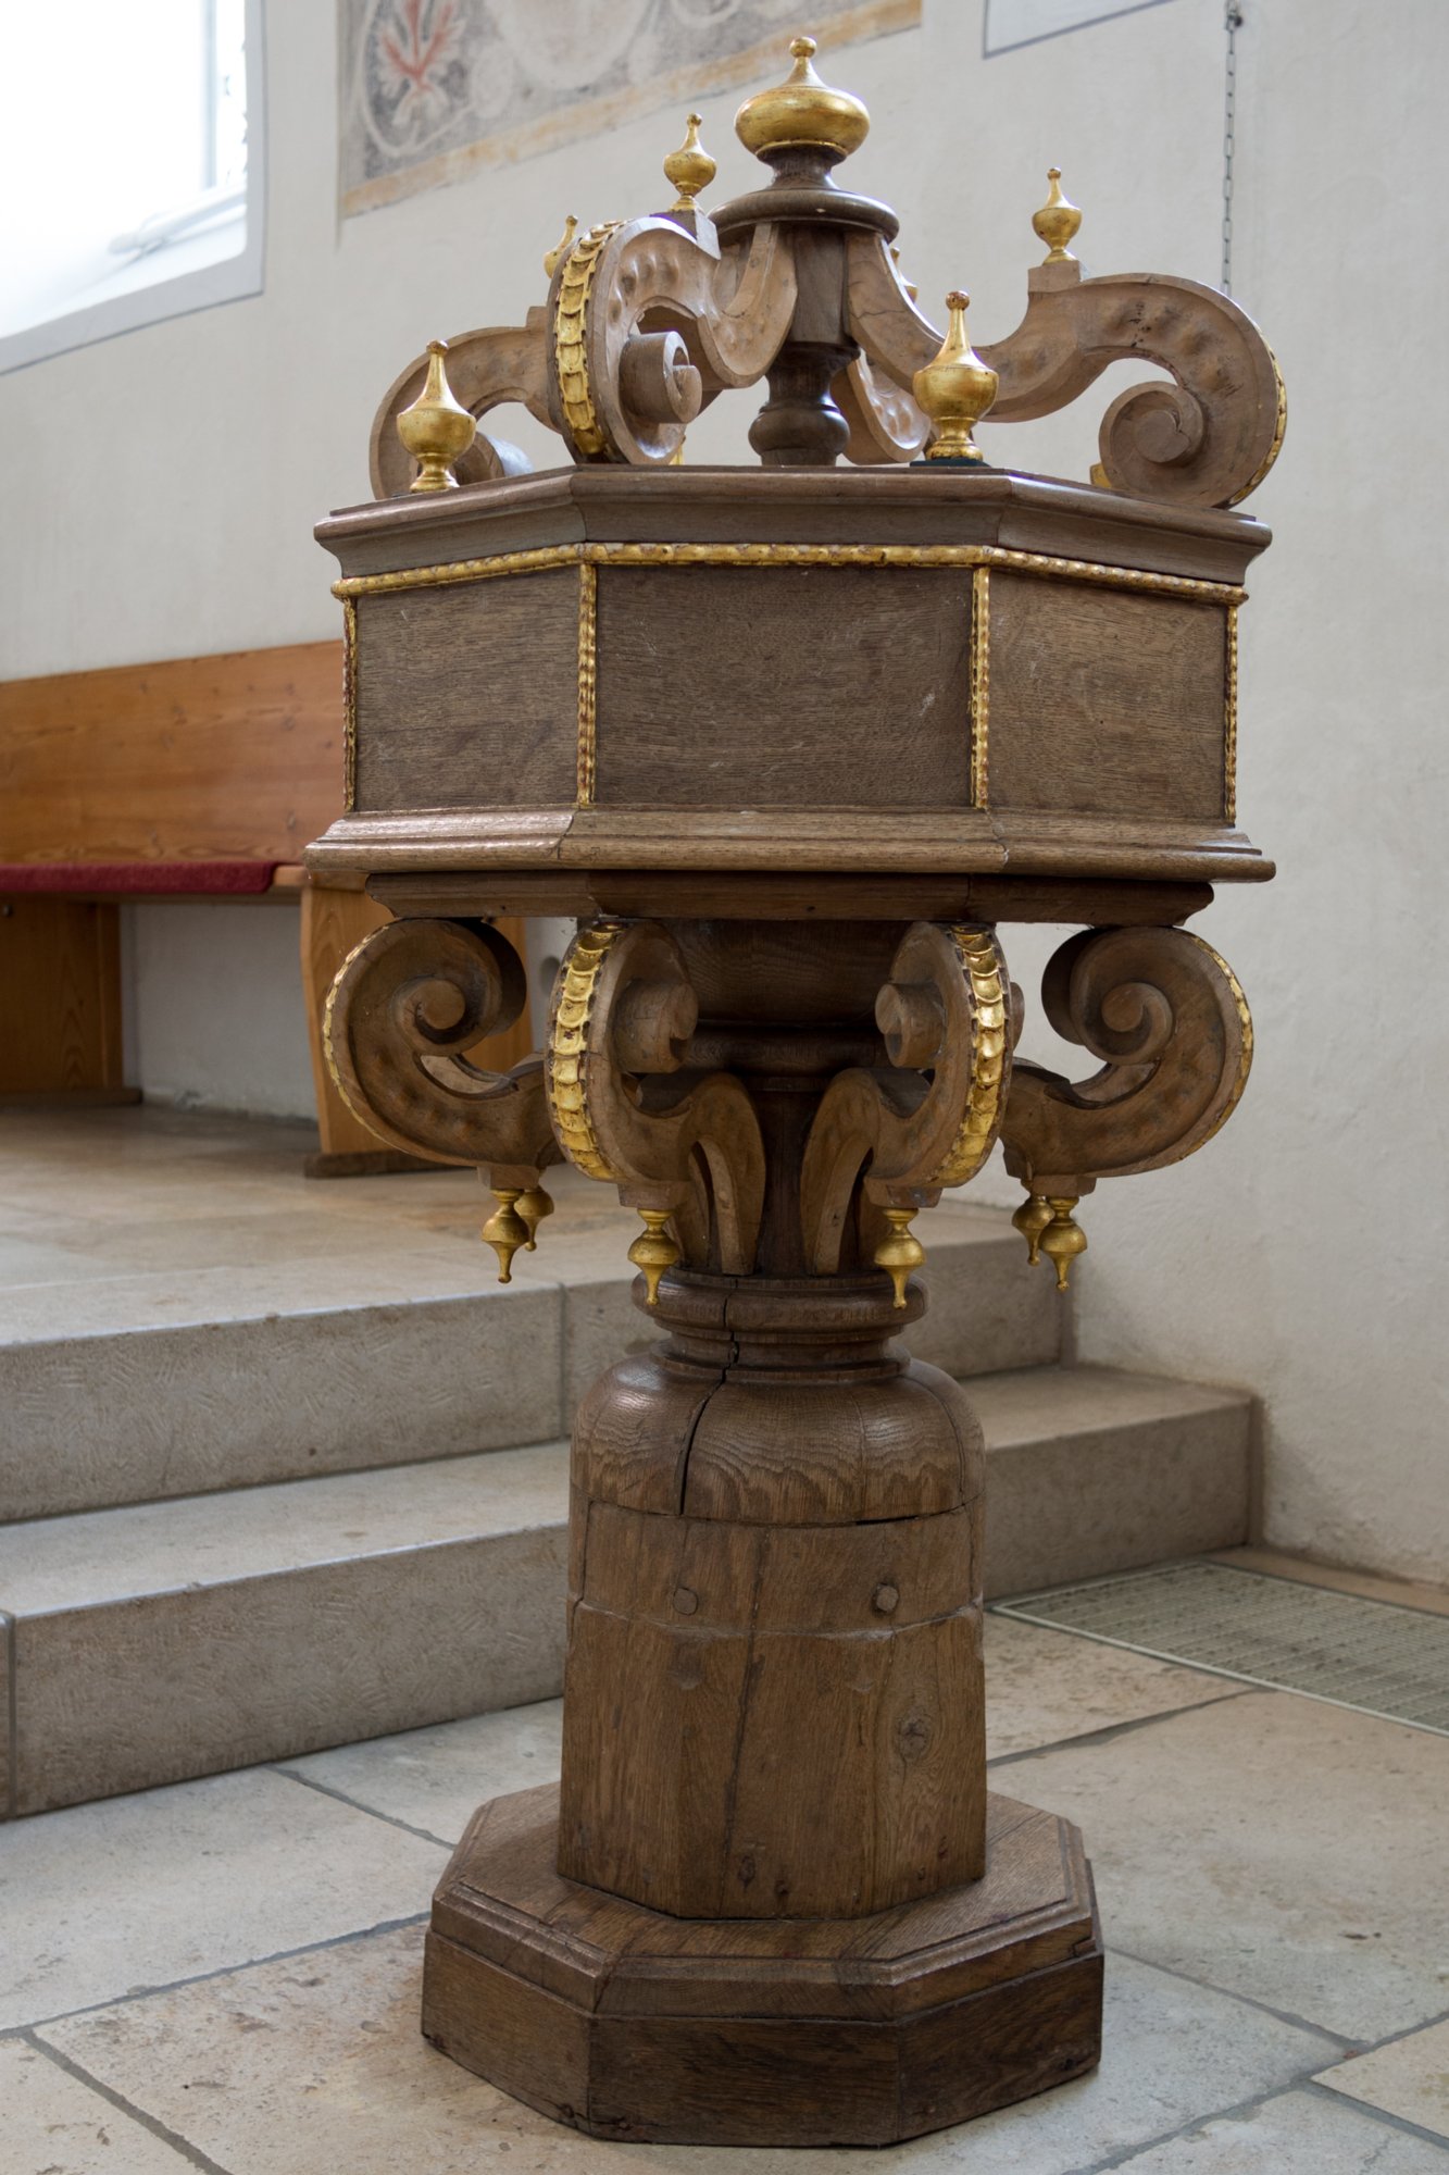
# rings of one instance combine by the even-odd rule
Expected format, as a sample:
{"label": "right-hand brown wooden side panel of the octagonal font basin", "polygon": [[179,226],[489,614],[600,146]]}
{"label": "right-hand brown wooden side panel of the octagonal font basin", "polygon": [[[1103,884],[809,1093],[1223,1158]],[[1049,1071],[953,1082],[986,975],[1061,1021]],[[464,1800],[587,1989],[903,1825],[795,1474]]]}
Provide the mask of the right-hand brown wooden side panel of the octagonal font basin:
{"label": "right-hand brown wooden side panel of the octagonal font basin", "polygon": [[1223,605],[992,574],[990,805],[1223,820]]}

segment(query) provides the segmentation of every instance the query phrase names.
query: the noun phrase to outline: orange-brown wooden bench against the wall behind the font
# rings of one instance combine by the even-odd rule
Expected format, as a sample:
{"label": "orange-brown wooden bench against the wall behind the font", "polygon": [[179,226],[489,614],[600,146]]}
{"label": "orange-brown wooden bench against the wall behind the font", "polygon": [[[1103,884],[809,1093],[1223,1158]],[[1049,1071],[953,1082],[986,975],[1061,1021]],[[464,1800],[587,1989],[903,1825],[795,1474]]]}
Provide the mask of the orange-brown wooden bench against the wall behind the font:
{"label": "orange-brown wooden bench against the wall behind the font", "polygon": [[[298,905],[320,1131],[307,1168],[413,1166],[352,1116],[322,1053],[337,966],[389,920],[300,866],[342,813],[342,761],[337,642],[0,683],[0,1105],[139,1101],[122,903]],[[524,1009],[479,1057],[498,1070],[529,1046]]]}

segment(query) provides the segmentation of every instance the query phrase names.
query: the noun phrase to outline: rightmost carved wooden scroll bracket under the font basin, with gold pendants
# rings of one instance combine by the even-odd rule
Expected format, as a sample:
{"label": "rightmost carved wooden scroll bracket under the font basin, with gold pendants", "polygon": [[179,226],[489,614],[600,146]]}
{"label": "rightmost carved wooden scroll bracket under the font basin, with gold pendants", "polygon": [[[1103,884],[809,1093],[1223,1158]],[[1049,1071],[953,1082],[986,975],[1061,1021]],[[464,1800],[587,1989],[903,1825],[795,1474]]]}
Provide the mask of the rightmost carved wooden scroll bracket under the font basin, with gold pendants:
{"label": "rightmost carved wooden scroll bracket under the font basin, with gold pendants", "polygon": [[1234,970],[1186,929],[1081,931],[1053,953],[1042,1007],[1101,1059],[1077,1085],[1018,1059],[1001,1122],[1005,1166],[1029,1194],[1016,1225],[1066,1283],[1086,1248],[1079,1196],[1212,1140],[1247,1085],[1253,1020]]}

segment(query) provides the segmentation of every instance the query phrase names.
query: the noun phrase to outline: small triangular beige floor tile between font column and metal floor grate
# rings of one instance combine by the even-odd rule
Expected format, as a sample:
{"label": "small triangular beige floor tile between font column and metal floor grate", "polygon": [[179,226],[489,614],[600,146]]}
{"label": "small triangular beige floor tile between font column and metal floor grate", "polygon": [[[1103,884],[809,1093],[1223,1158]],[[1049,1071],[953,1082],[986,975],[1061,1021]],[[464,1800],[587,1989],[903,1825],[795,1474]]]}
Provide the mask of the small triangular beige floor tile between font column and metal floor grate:
{"label": "small triangular beige floor tile between font column and metal floor grate", "polygon": [[[1153,1662],[1010,1616],[986,1618],[986,1755],[1057,1744],[1173,1707],[1229,1696],[1236,1686],[1201,1668]],[[1003,1786],[1005,1788],[1005,1786]]]}

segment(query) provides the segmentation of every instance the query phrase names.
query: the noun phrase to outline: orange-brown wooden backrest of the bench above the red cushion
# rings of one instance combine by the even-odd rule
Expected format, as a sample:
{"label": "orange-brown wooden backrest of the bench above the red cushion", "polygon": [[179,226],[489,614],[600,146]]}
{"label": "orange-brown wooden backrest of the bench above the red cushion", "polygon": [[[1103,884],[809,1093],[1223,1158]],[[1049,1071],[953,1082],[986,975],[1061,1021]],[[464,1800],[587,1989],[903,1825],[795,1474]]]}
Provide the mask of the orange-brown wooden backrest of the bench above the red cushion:
{"label": "orange-brown wooden backrest of the bench above the red cushion", "polygon": [[342,644],[0,683],[0,861],[300,861],[342,813]]}

